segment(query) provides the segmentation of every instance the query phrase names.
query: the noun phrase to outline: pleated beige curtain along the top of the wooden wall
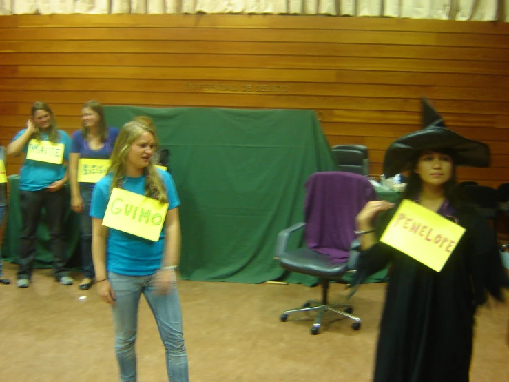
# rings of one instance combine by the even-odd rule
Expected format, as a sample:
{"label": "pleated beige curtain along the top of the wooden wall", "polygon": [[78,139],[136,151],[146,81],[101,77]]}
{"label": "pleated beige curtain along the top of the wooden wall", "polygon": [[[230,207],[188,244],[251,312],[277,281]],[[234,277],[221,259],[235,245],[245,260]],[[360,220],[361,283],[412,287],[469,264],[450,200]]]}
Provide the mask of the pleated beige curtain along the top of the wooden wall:
{"label": "pleated beige curtain along the top of the wooden wall", "polygon": [[509,0],[0,0],[3,15],[198,12],[509,21]]}

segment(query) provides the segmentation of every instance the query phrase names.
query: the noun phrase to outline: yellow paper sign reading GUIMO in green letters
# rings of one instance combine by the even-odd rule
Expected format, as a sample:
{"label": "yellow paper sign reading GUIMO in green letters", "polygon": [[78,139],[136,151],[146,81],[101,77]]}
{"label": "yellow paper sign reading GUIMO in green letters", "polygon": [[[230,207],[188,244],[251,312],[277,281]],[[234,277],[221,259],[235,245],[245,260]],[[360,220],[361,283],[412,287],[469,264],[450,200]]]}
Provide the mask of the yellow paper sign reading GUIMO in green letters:
{"label": "yellow paper sign reading GUIMO in green letters", "polygon": [[103,225],[158,241],[163,229],[168,203],[114,188],[106,208]]}

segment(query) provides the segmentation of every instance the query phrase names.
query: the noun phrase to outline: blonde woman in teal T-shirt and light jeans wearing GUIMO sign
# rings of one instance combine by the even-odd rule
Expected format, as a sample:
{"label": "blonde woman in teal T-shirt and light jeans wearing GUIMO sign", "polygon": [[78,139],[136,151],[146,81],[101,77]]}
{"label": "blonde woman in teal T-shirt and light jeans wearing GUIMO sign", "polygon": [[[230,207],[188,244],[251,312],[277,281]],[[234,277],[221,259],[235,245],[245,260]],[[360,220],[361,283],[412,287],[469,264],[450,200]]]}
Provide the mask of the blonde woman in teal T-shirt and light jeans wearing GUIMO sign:
{"label": "blonde woman in teal T-shirt and light jeans wearing GUIMO sign", "polygon": [[[112,167],[96,183],[92,194],[92,255],[97,290],[101,299],[112,306],[121,382],[136,381],[134,345],[141,294],[145,295],[154,314],[165,347],[168,379],[189,381],[176,288],[176,267],[180,261],[180,200],[172,177],[155,166],[156,147],[154,128],[135,121],[123,125],[113,148]],[[158,241],[103,225],[115,188],[168,203]],[[127,213],[127,208],[123,210]]]}

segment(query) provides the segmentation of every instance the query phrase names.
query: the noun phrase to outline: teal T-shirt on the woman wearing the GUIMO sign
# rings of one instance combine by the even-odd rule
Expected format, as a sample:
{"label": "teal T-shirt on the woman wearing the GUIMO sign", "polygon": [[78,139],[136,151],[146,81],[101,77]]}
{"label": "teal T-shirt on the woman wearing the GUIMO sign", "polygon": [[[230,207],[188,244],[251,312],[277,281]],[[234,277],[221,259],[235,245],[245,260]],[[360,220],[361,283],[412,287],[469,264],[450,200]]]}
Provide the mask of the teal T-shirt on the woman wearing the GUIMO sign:
{"label": "teal T-shirt on the woman wearing the GUIMO sign", "polygon": [[[180,205],[172,176],[157,169],[163,179],[169,205],[168,210]],[[113,174],[109,172],[96,183],[92,193],[90,216],[104,219],[108,201],[110,201]],[[124,177],[122,189],[136,194],[145,194],[145,176]],[[126,218],[127,219],[127,218]],[[106,270],[126,276],[146,276],[155,273],[161,266],[164,252],[165,230],[161,230],[158,241],[151,241],[128,234],[114,228],[108,228],[106,246]]]}

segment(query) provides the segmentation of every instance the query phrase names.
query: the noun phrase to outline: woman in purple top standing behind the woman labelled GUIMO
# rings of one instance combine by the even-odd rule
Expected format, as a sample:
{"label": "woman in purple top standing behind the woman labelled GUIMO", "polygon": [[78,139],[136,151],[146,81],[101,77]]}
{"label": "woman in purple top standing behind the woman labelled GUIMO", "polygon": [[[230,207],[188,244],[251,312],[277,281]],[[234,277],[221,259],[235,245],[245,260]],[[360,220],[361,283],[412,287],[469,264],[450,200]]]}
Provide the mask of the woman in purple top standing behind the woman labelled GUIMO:
{"label": "woman in purple top standing behind the woman labelled GUIMO", "polygon": [[83,128],[72,134],[72,150],[69,156],[71,186],[71,208],[81,214],[81,262],[83,280],[81,290],[90,289],[94,282],[94,263],[92,262],[92,219],[90,201],[95,183],[78,183],[79,159],[110,159],[117,128],[108,128],[104,118],[103,106],[98,101],[88,101],[81,108]]}

